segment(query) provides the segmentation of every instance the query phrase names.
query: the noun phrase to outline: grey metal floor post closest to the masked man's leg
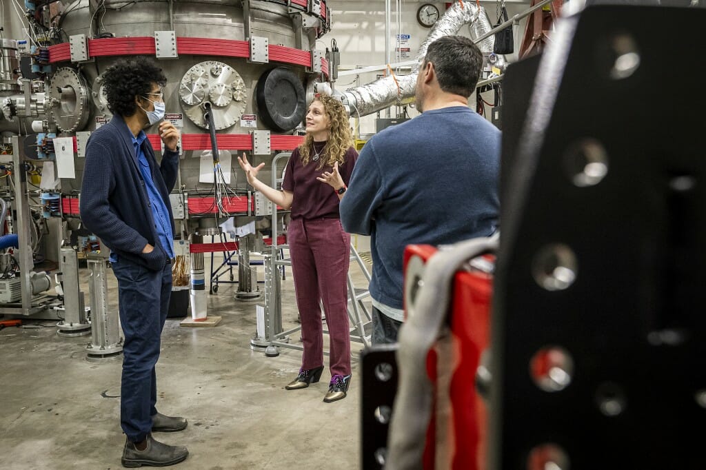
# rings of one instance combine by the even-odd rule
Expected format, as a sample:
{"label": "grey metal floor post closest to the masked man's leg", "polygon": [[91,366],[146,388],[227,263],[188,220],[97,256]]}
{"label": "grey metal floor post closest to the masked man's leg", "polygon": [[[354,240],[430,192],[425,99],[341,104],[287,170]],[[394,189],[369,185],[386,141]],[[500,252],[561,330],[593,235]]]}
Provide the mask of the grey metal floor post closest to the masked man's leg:
{"label": "grey metal floor post closest to the masked man's leg", "polygon": [[91,307],[91,342],[86,346],[86,359],[105,361],[123,352],[123,339],[117,313],[108,311],[108,283],[105,278],[106,260],[88,260],[88,291]]}

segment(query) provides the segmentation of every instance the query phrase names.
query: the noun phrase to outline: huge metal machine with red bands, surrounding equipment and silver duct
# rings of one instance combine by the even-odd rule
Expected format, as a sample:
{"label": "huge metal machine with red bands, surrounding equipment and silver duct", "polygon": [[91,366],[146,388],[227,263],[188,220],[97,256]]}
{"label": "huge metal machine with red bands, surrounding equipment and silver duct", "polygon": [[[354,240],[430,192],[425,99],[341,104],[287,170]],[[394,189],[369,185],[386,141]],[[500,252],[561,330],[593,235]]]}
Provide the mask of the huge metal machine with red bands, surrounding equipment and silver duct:
{"label": "huge metal machine with red bands, surrounding equipment and silver duct", "polygon": [[[121,57],[145,55],[167,76],[166,119],[181,131],[170,195],[174,289],[188,290],[193,318],[205,318],[204,253],[228,252],[237,253],[237,299],[261,297],[250,253],[263,253],[268,328],[258,344],[272,341],[282,331],[273,272],[282,265],[287,213],[253,193],[235,156],[265,162],[261,178],[276,186],[304,138],[316,92],[333,92],[354,116],[372,114],[413,100],[417,61],[406,76],[334,91],[335,42],[316,49],[331,25],[323,0],[25,0],[25,8],[15,30],[27,35],[0,43],[0,313],[60,320],[60,335],[90,333],[90,357],[120,353],[118,315],[106,301],[109,250],[83,229],[78,201],[86,143],[112,118],[103,73]],[[433,40],[464,25],[491,53],[483,8],[455,3],[417,60]],[[156,126],[146,132],[159,158]],[[84,258],[89,302],[79,289]]]}

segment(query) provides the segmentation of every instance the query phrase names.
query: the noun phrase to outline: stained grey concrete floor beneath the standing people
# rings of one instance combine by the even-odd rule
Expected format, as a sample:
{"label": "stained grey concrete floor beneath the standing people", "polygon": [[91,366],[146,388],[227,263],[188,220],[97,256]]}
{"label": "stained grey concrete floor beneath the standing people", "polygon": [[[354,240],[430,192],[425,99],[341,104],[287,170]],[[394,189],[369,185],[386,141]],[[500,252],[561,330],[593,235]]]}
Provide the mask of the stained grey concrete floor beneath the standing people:
{"label": "stained grey concrete floor beneath the standing people", "polygon": [[[364,279],[359,270],[352,272],[356,282]],[[84,265],[81,289],[88,299],[86,274]],[[108,279],[109,306],[117,312],[112,272]],[[236,290],[237,284],[220,284],[217,295],[209,295],[209,315],[222,316],[217,327],[181,327],[180,319],[167,319],[157,409],[185,416],[189,427],[155,438],[189,448],[188,459],[177,465],[184,470],[360,468],[361,344],[352,343],[353,378],[345,399],[322,402],[328,368],[321,382],[285,390],[297,375],[301,351],[281,348],[274,358],[252,351],[257,302],[234,300]],[[282,292],[287,330],[297,325],[291,272]],[[90,337],[59,337],[55,324],[28,320],[0,331],[0,469],[122,468],[121,358],[87,361]],[[299,332],[291,339],[298,343]],[[324,363],[328,367],[328,356]]]}

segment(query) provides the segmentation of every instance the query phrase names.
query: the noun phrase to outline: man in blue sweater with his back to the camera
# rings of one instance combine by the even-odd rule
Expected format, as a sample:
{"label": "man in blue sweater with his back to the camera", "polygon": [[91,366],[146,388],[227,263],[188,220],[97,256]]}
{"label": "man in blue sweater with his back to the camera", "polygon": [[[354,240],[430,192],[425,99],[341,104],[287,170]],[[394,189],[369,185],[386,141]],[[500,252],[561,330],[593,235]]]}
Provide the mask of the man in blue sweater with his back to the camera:
{"label": "man in blue sweater with his back to the camera", "polygon": [[371,235],[373,344],[397,342],[405,246],[489,236],[498,226],[500,131],[468,107],[482,61],[467,37],[432,42],[417,76],[422,114],[373,135],[341,200],[343,228]]}

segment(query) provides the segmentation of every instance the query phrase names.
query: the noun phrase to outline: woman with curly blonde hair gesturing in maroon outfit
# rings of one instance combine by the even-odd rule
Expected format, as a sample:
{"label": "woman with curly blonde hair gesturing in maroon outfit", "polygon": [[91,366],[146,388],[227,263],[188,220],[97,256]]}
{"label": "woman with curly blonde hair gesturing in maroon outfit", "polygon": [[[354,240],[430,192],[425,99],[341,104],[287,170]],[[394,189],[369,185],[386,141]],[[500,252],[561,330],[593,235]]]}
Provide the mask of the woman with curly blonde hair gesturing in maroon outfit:
{"label": "woman with curly blonde hair gesturing in maroon outfit", "polygon": [[289,157],[282,191],[257,179],[265,165],[252,167],[245,154],[238,157],[248,183],[273,203],[291,208],[287,229],[292,257],[294,291],[301,318],[304,354],[297,378],[287,390],[318,382],[323,373],[321,308],[328,325],[331,380],[324,402],[345,398],[351,379],[346,277],[350,235],[343,231],[338,203],[358,158],[343,105],[328,95],[317,95],[306,113],[306,138]]}

